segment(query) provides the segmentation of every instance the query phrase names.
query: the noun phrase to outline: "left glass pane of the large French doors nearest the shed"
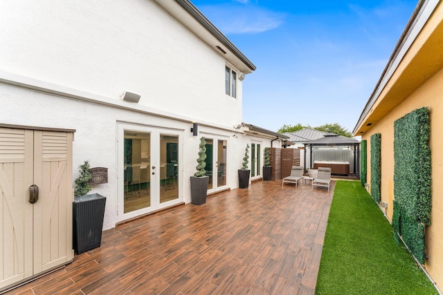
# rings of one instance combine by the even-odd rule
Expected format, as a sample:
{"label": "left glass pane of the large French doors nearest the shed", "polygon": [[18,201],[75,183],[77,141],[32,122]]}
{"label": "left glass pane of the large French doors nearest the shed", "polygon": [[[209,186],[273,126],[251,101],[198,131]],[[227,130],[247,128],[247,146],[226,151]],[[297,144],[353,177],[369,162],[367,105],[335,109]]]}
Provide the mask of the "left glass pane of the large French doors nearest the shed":
{"label": "left glass pane of the large French doors nearest the shed", "polygon": [[150,145],[151,134],[125,131],[123,212],[151,206]]}

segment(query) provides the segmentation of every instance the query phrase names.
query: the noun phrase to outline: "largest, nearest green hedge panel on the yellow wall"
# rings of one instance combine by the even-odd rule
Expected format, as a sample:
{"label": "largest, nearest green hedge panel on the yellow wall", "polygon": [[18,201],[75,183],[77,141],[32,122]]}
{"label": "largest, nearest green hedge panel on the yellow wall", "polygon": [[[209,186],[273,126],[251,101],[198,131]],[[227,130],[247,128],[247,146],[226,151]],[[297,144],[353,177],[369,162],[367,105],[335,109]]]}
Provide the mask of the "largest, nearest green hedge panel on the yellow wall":
{"label": "largest, nearest green hedge panel on the yellow wall", "polygon": [[394,123],[395,235],[424,263],[424,230],[431,224],[429,111],[419,108]]}

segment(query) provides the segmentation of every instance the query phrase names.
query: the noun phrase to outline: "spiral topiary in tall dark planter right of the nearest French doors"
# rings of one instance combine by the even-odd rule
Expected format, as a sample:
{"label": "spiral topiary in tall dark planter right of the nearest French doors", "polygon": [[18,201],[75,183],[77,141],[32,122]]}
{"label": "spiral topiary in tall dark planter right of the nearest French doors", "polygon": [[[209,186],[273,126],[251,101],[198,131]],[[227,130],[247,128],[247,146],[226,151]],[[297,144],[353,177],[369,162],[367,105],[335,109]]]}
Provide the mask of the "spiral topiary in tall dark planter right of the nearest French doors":
{"label": "spiral topiary in tall dark planter right of the nearest French doors", "polygon": [[192,204],[201,205],[206,203],[206,195],[208,193],[209,176],[206,175],[206,140],[205,137],[200,138],[199,158],[197,158],[197,172],[191,176],[191,202]]}

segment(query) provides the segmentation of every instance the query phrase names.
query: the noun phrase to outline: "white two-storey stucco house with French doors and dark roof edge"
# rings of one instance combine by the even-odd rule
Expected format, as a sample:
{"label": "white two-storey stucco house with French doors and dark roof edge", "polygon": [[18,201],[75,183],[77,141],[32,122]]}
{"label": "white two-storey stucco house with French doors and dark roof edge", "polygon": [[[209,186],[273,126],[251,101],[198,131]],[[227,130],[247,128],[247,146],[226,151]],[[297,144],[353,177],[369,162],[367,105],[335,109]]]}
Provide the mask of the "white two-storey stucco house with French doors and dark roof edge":
{"label": "white two-storey stucco house with French doors and dark roof edge", "polygon": [[5,0],[0,16],[0,128],[72,133],[71,184],[85,160],[107,168],[103,229],[189,203],[200,137],[208,193],[238,187],[246,144],[260,179],[286,138],[243,124],[255,65],[188,0]]}

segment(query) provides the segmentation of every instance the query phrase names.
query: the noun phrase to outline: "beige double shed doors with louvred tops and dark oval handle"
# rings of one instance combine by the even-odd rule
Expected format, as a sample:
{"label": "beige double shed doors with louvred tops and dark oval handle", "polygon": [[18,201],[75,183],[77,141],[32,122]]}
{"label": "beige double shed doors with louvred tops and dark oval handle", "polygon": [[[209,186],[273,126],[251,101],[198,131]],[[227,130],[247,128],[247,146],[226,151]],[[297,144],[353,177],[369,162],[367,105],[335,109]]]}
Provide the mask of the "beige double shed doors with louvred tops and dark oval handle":
{"label": "beige double shed doors with louvred tops and dark oval handle", "polygon": [[0,127],[0,291],[73,260],[72,141]]}

